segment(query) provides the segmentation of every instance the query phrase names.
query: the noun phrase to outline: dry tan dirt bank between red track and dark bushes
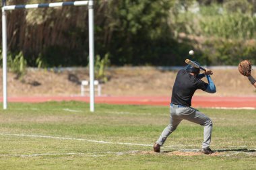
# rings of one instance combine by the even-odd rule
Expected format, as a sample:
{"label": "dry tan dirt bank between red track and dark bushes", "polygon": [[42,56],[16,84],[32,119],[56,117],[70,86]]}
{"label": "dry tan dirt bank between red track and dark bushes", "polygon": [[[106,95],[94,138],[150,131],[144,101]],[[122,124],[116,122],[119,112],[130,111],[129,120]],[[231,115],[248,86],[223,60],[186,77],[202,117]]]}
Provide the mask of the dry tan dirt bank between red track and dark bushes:
{"label": "dry tan dirt bank between red track and dark bushes", "polygon": [[[256,95],[247,77],[237,69],[213,69],[212,79],[217,93],[196,91],[195,95],[243,96]],[[108,81],[102,83],[102,95],[114,96],[170,96],[177,71],[161,67],[119,67],[106,71]],[[256,77],[256,75],[253,75]],[[80,95],[80,83],[89,79],[85,68],[38,70],[28,69],[22,80],[7,74],[8,96],[73,96]],[[207,81],[203,78],[204,81]],[[2,81],[2,77],[0,77]],[[2,96],[2,85],[0,95]],[[88,95],[88,94],[86,94]]]}

